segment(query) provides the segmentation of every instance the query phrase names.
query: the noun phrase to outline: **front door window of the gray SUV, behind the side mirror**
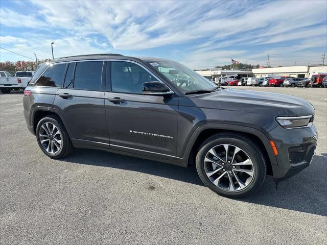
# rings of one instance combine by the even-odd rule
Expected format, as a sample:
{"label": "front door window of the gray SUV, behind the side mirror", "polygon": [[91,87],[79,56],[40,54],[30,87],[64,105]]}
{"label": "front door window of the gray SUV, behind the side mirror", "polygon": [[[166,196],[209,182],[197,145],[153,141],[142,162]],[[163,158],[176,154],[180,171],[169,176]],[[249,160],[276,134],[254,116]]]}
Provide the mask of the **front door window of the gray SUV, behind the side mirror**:
{"label": "front door window of the gray SUV, behind the side mirror", "polygon": [[158,81],[141,66],[124,61],[111,62],[111,89],[113,92],[140,93],[145,82]]}

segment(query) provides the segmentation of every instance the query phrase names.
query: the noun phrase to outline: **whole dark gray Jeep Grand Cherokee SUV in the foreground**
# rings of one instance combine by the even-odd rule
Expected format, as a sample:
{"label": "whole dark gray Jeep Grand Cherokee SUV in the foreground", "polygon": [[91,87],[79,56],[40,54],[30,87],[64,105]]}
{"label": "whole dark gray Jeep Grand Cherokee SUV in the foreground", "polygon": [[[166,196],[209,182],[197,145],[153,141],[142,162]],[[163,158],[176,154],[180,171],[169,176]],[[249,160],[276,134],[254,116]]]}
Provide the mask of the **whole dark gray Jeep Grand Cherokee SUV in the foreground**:
{"label": "whole dark gray Jeep Grand Cherokee SUV in the foreground", "polygon": [[196,164],[207,187],[232,198],[307,167],[317,141],[306,100],[223,89],[170,60],[116,54],[41,64],[24,115],[51,158],[90,148]]}

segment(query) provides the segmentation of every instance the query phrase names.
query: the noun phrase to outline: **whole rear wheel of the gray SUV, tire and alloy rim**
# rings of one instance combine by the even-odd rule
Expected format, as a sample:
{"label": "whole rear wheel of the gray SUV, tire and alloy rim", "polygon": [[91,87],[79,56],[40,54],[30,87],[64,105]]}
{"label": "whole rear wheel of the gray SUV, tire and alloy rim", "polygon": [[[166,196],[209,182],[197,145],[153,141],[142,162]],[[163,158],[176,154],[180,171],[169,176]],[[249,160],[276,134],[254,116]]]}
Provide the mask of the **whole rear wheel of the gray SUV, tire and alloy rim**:
{"label": "whole rear wheel of the gray SUV, tire and alloy rim", "polygon": [[36,138],[42,152],[50,158],[63,158],[74,151],[71,139],[57,115],[43,117],[38,122]]}

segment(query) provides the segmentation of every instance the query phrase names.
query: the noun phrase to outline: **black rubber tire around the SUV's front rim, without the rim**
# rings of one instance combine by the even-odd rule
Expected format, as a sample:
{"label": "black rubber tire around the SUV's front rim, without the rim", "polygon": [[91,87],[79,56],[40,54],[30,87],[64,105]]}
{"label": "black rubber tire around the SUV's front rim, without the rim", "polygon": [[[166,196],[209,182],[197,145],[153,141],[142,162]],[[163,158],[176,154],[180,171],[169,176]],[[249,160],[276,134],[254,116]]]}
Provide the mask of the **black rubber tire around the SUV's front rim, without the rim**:
{"label": "black rubber tire around the SUV's front rim, without the rim", "polygon": [[[215,185],[207,177],[204,169],[204,158],[207,152],[216,145],[231,144],[241,148],[252,160],[254,175],[251,182],[245,188],[236,191],[224,190]],[[266,178],[266,160],[260,146],[252,139],[236,133],[219,133],[205,140],[196,156],[196,168],[198,175],[205,186],[219,195],[227,198],[243,198],[259,190]]]}

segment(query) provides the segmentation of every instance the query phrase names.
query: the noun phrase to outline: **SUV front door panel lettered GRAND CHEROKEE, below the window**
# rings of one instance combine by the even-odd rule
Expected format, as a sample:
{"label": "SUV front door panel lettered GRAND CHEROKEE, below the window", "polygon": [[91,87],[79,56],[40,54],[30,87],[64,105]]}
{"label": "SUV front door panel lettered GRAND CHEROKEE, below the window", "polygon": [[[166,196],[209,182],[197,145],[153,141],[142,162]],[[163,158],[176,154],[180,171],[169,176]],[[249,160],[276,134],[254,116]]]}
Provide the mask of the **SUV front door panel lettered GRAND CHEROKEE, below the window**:
{"label": "SUV front door panel lettered GRAND CHEROKEE, below the window", "polygon": [[[125,101],[108,100],[115,97]],[[162,158],[176,156],[178,99],[106,92],[110,148],[146,155],[153,152]]]}

